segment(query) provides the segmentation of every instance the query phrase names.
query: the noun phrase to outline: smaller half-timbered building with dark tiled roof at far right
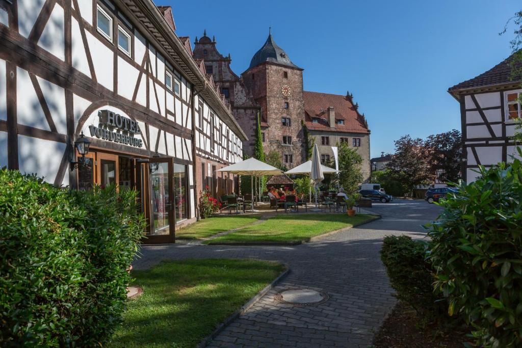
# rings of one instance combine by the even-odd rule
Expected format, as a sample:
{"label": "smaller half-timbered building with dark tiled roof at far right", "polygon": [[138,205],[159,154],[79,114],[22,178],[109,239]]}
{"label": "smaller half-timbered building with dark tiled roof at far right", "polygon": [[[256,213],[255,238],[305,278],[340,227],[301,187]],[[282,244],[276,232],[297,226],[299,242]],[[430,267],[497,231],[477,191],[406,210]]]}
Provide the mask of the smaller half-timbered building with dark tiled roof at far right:
{"label": "smaller half-timbered building with dark tiled roof at far right", "polygon": [[517,154],[511,137],[520,115],[520,81],[511,76],[512,57],[470,80],[450,87],[460,103],[462,127],[462,176],[474,181],[479,165],[508,162]]}

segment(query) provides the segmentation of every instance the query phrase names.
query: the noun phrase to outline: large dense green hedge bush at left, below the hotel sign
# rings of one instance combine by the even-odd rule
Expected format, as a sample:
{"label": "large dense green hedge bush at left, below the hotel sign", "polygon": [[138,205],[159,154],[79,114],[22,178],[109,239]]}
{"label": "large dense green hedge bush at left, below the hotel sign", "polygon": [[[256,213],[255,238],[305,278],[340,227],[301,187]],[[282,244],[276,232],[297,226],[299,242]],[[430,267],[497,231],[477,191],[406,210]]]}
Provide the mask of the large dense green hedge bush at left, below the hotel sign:
{"label": "large dense green hedge bush at left, below the hotel sign", "polygon": [[0,342],[100,346],[120,323],[144,219],[136,193],[0,170]]}

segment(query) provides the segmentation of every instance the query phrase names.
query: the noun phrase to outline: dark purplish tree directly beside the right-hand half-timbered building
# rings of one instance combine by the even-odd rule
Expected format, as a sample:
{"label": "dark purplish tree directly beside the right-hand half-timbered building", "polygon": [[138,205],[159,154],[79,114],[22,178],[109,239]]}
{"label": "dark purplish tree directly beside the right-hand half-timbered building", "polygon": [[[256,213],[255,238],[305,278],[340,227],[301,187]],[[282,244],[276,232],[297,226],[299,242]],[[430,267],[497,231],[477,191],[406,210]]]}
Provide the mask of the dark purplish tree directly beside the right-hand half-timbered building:
{"label": "dark purplish tree directly beside the right-hand half-timbered building", "polygon": [[431,163],[433,172],[442,169],[441,181],[456,183],[460,178],[462,159],[462,135],[457,129],[445,133],[430,135],[426,146],[433,150]]}

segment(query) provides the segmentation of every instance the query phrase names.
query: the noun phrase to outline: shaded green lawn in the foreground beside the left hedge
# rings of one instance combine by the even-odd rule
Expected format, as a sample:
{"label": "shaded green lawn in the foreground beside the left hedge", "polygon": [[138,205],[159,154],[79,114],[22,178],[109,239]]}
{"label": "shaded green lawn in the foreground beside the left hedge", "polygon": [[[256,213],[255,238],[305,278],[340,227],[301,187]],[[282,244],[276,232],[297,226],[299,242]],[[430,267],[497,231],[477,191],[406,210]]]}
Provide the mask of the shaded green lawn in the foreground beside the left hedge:
{"label": "shaded green lawn in the foreground beside the left hedge", "polygon": [[194,347],[284,270],[277,263],[203,259],[133,271],[144,293],[129,301],[109,347]]}

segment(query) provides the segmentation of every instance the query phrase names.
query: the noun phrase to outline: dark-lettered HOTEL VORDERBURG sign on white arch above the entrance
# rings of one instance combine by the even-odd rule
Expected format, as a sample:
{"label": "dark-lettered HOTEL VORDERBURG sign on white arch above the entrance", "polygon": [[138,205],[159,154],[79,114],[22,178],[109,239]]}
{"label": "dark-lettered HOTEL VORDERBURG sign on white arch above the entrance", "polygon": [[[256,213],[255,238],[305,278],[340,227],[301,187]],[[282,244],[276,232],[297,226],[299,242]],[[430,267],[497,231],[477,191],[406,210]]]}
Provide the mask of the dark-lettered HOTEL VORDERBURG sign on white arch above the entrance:
{"label": "dark-lettered HOTEL VORDERBURG sign on white arch above the entrance", "polygon": [[136,121],[109,110],[98,111],[98,117],[98,127],[89,126],[91,137],[114,141],[137,148],[143,147],[143,141],[134,137],[135,134],[141,134],[141,129],[139,129],[139,125]]}

